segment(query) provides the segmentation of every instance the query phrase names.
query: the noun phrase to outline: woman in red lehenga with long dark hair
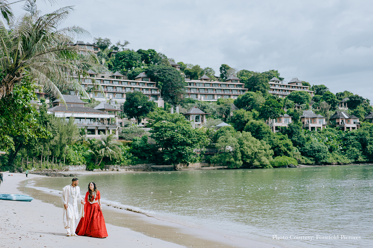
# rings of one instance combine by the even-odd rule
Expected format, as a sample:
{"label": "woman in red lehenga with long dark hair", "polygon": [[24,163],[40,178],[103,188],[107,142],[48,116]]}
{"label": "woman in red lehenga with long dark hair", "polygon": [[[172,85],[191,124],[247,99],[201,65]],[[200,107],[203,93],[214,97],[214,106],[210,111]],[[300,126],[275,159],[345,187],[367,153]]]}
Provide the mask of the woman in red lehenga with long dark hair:
{"label": "woman in red lehenga with long dark hair", "polygon": [[78,236],[88,236],[94,238],[106,238],[107,231],[100,201],[100,191],[96,184],[88,184],[88,192],[85,194],[84,217],[79,221],[75,233]]}

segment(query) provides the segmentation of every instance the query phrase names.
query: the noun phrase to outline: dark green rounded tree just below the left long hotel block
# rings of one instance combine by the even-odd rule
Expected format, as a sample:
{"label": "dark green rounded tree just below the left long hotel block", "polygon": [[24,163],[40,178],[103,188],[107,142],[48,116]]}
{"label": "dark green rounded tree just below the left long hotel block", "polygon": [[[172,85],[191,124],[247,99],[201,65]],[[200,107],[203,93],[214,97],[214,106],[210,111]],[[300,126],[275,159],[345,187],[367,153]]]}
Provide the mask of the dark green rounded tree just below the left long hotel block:
{"label": "dark green rounded tree just below the left long hotel block", "polygon": [[148,96],[139,91],[127,93],[123,104],[123,112],[130,118],[135,117],[137,123],[140,123],[141,118],[145,118],[155,108],[156,103],[149,101]]}

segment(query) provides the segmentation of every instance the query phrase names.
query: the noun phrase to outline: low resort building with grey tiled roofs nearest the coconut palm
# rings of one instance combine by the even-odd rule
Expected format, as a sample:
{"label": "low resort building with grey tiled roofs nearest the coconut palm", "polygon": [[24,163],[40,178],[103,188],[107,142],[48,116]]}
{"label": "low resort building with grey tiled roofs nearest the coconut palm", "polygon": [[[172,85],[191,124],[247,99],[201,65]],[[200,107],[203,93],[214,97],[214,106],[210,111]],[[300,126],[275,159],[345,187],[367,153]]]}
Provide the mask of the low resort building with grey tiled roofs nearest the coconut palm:
{"label": "low resort building with grey tiled roofs nearest the coconut palm", "polygon": [[[104,105],[102,102],[97,107],[99,109],[85,107],[84,101],[79,99],[76,95],[63,95],[66,105],[56,99],[53,101],[53,107],[48,108],[48,114],[53,114],[55,117],[65,118],[67,121],[70,117],[74,117],[74,122],[78,125],[78,128],[85,128],[88,138],[100,139],[101,134],[114,134],[118,137],[119,123],[118,118],[115,114],[109,114],[109,106]],[[96,107],[96,108],[97,108]],[[112,109],[114,112],[114,109]]]}

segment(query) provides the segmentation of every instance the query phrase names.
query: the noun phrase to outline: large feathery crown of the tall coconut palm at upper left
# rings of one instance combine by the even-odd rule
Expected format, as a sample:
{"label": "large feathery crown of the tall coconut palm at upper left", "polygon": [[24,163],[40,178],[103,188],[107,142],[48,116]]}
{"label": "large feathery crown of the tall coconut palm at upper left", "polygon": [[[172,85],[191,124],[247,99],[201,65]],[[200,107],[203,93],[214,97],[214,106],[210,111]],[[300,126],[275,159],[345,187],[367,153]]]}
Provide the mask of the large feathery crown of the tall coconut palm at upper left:
{"label": "large feathery crown of the tall coconut palm at upper left", "polygon": [[[41,15],[35,1],[27,0],[23,6],[26,13],[10,25],[10,30],[0,22],[0,99],[12,93],[15,84],[22,84],[26,74],[62,101],[59,88],[74,89],[89,98],[76,78],[89,78],[89,69],[98,73],[105,69],[94,53],[69,45],[89,33],[79,26],[58,29],[73,11],[72,6]],[[102,90],[100,84],[92,82]]]}

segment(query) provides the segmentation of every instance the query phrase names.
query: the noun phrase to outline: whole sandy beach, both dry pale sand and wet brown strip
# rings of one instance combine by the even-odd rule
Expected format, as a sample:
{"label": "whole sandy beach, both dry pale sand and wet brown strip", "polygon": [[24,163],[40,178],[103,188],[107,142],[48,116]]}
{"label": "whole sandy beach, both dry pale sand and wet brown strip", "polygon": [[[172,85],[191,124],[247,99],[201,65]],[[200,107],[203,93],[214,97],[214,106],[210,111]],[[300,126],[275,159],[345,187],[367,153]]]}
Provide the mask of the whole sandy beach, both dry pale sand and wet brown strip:
{"label": "whole sandy beach, both dry pale sand and wet brown strip", "polygon": [[[76,173],[88,175],[92,172],[81,173],[79,171]],[[113,172],[110,171],[110,173]],[[26,178],[25,174],[21,173],[4,173],[4,182],[1,183],[0,193],[25,194],[25,192],[19,190],[20,188],[25,188],[25,180],[41,177],[45,176],[29,174],[28,178]],[[109,234],[107,238],[67,237],[62,224],[60,195],[44,193],[43,196],[40,191],[34,189],[29,189],[26,194],[28,193],[35,198],[31,202],[0,200],[2,209],[0,221],[3,223],[0,226],[0,247],[84,247],[88,244],[90,247],[100,248],[279,248],[278,245],[258,241],[242,240],[240,242],[231,242],[229,236],[211,236],[211,233],[204,230],[201,230],[201,233],[196,235],[195,232],[189,232],[188,228],[184,226],[176,225],[175,223],[165,223],[143,214],[109,206],[103,206]],[[129,228],[123,226],[128,226]]]}

